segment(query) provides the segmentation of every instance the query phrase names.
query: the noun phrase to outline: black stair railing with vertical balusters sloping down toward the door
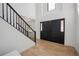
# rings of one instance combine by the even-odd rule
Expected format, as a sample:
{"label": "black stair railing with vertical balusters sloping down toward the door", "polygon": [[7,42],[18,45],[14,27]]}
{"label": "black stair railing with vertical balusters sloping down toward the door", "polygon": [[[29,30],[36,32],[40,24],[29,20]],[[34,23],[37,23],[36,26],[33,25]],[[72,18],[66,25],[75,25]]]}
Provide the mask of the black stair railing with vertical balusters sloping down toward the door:
{"label": "black stair railing with vertical balusters sloping down toward the door", "polygon": [[0,3],[0,17],[25,36],[36,42],[36,32],[9,3]]}

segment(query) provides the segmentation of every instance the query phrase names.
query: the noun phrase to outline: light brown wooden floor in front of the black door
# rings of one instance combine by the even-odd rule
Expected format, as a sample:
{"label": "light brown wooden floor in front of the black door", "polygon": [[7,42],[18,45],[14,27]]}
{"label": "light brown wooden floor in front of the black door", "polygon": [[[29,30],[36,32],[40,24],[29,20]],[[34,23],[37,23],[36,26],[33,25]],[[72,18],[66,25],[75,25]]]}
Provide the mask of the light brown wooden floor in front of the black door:
{"label": "light brown wooden floor in front of the black door", "polygon": [[61,44],[40,40],[35,47],[21,53],[22,56],[73,56],[75,48]]}

